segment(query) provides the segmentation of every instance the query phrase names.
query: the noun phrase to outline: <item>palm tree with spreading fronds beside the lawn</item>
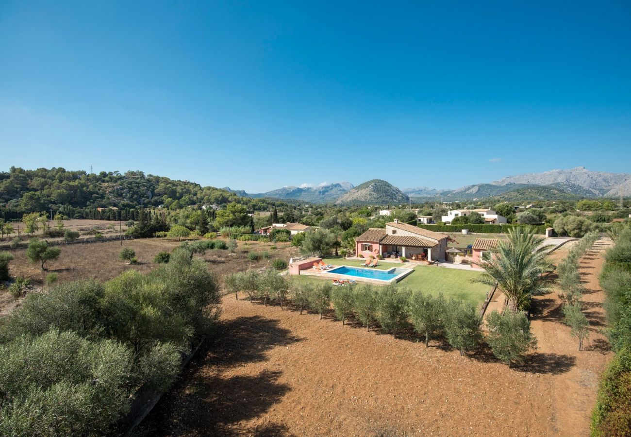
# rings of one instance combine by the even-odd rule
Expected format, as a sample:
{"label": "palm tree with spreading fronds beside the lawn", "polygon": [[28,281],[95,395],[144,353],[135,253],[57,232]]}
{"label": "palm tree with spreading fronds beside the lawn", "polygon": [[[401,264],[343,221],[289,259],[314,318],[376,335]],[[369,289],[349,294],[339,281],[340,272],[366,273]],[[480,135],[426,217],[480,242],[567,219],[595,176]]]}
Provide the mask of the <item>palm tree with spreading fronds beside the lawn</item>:
{"label": "palm tree with spreading fronds beside the lawn", "polygon": [[550,291],[545,273],[553,271],[548,260],[550,245],[541,244],[531,228],[509,229],[508,239],[500,241],[491,260],[481,261],[485,270],[471,282],[497,286],[504,292],[510,311],[516,313],[533,296]]}

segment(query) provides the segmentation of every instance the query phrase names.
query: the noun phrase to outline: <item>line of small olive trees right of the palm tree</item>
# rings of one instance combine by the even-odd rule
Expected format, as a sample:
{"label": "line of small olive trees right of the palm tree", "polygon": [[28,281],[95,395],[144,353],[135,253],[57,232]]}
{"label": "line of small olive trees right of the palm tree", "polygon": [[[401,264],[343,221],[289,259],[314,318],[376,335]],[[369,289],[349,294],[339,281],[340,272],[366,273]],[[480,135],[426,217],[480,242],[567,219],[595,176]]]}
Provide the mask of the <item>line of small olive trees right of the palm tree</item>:
{"label": "line of small olive trees right of the palm tree", "polygon": [[579,274],[579,261],[598,239],[598,232],[587,232],[572,246],[557,268],[559,296],[563,299],[563,321],[570,326],[570,334],[579,340],[579,350],[589,337],[589,321],[582,312],[584,287]]}

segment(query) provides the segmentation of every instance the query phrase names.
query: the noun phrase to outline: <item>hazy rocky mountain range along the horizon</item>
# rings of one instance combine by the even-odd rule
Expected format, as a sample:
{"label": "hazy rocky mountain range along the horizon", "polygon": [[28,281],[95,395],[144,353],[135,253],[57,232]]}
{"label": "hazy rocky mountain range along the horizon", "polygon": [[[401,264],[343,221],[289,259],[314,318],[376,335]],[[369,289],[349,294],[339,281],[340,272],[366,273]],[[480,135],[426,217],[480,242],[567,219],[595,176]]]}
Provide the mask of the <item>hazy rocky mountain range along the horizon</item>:
{"label": "hazy rocky mountain range along the horizon", "polygon": [[464,201],[481,198],[497,200],[573,200],[631,196],[631,174],[590,171],[585,167],[551,170],[542,173],[507,176],[491,183],[480,183],[457,189],[419,186],[399,189],[382,179],[371,179],[357,187],[348,182],[312,188],[288,186],[266,193],[249,194],[225,188],[240,196],[304,200],[338,205],[400,205],[408,200]]}

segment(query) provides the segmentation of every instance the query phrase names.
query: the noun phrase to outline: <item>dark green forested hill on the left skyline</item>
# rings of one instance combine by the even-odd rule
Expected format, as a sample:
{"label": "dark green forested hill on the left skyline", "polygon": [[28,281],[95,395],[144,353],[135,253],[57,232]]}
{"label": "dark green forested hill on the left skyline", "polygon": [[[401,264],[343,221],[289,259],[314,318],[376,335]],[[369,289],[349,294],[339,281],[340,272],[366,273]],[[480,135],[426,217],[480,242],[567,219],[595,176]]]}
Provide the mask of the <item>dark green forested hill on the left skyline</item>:
{"label": "dark green forested hill on the left skyline", "polygon": [[[141,171],[66,171],[61,167],[0,172],[0,209],[14,213],[73,208],[136,208],[164,205],[176,210],[187,205],[222,205],[236,201],[266,210],[268,201],[240,198],[235,193],[202,187],[188,181],[145,175]],[[254,205],[260,203],[261,205]],[[259,208],[260,207],[260,208]]]}

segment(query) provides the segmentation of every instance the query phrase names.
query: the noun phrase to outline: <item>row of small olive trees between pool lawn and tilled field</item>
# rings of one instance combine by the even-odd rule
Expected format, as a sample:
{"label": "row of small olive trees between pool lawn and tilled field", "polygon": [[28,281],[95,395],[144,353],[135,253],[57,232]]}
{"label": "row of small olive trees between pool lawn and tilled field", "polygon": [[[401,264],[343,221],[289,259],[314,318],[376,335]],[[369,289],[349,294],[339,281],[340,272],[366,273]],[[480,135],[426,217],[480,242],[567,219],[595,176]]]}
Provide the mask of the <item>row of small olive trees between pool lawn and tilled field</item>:
{"label": "row of small olive trees between pool lawn and tilled field", "polygon": [[[225,278],[227,289],[237,295],[247,294],[249,299],[269,299],[283,303],[290,300],[302,311],[307,308],[322,315],[333,308],[335,317],[344,325],[355,318],[366,329],[379,327],[384,332],[401,333],[413,328],[425,338],[445,338],[461,356],[475,349],[482,339],[481,318],[478,310],[468,302],[445,299],[442,294],[432,296],[420,290],[410,291],[396,285],[375,287],[356,285],[334,287],[329,283],[288,282],[273,270],[262,274],[250,270],[234,273]],[[534,346],[524,314],[492,314],[493,332],[487,343],[503,362],[519,362],[523,354]]]}

